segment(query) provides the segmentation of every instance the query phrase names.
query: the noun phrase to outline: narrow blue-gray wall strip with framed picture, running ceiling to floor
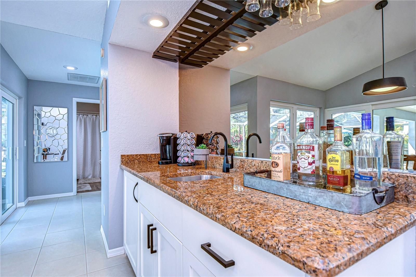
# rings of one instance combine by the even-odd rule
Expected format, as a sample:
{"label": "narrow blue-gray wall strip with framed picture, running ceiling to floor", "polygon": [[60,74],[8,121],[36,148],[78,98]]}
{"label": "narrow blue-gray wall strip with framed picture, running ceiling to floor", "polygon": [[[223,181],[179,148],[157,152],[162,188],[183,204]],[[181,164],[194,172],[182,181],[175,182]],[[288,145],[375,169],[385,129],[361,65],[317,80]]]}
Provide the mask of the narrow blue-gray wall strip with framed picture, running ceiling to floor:
{"label": "narrow blue-gray wall strip with framed picture, running ceiling to floor", "polygon": [[[120,1],[111,0],[106,11],[104,20],[104,30],[102,35],[101,48],[104,48],[104,58],[101,59],[101,78],[107,78],[107,99],[108,99],[108,42],[110,40],[111,31],[113,30],[114,21],[116,20],[117,12],[119,11]],[[100,80],[101,82],[101,80]],[[111,119],[108,113],[107,103],[107,123]],[[107,124],[108,126],[108,124]],[[101,148],[101,226],[104,231],[105,239],[109,249],[123,246],[119,245],[118,240],[112,239],[109,234],[109,149],[108,149],[108,131],[101,133],[102,148]],[[105,210],[104,210],[105,209]],[[123,217],[123,213],[119,215]]]}

